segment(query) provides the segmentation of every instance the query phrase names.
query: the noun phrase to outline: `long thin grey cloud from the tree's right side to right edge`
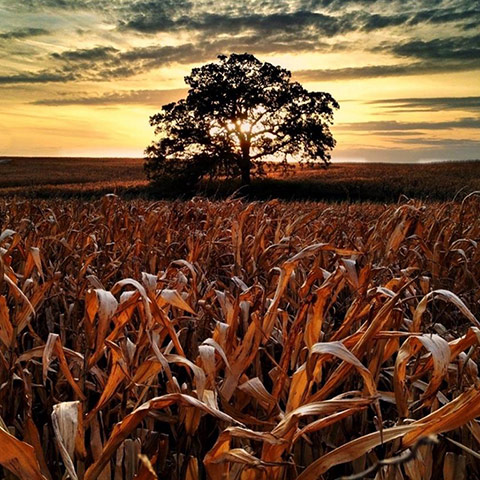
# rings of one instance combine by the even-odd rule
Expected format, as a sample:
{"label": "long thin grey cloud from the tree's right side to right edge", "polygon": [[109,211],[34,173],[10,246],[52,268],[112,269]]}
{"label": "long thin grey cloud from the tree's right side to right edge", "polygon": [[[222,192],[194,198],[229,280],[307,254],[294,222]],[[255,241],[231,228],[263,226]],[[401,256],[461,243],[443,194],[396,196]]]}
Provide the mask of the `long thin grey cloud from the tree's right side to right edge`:
{"label": "long thin grey cloud from the tree's right side to right edge", "polygon": [[336,130],[349,132],[383,132],[383,131],[406,131],[406,130],[453,130],[458,128],[480,128],[480,118],[462,118],[449,122],[357,122],[344,123],[335,127]]}

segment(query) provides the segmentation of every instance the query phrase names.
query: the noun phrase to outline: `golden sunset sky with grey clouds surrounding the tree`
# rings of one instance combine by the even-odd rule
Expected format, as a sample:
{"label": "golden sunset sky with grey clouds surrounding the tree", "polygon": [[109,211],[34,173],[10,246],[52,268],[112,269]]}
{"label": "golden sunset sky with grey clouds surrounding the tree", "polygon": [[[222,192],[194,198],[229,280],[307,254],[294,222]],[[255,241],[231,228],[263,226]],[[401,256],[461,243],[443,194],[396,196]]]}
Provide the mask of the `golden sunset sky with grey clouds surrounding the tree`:
{"label": "golden sunset sky with grey clouds surrounding the tree", "polygon": [[478,0],[0,0],[0,156],[135,156],[249,52],[340,103],[333,161],[480,158]]}

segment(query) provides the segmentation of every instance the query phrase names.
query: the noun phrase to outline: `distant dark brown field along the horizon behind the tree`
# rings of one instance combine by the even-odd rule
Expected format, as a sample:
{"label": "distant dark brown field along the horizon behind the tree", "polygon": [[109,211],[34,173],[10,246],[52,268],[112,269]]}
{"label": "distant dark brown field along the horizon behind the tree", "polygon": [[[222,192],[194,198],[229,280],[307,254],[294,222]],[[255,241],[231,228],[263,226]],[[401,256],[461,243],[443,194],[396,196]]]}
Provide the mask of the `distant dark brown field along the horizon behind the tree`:
{"label": "distant dark brown field along the horizon behind the tree", "polygon": [[[198,193],[226,197],[235,182],[204,182]],[[329,169],[298,169],[287,177],[272,173],[254,181],[252,198],[397,201],[401,195],[428,200],[463,198],[480,190],[480,162],[434,164],[333,164]],[[0,195],[30,197],[175,196],[168,186],[152,191],[141,159],[0,159]]]}

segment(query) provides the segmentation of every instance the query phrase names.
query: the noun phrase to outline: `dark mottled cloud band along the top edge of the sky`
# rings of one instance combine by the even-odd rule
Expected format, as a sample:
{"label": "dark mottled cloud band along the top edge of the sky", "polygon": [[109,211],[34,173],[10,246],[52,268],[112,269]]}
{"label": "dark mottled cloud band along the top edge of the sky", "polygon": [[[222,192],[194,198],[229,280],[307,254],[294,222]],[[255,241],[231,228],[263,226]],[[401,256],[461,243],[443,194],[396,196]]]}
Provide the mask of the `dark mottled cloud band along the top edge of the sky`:
{"label": "dark mottled cloud band along the top edge of the sky", "polygon": [[430,5],[422,2],[419,6],[418,2],[372,0],[229,1],[216,5],[215,9],[209,2],[141,0],[125,5],[119,12],[121,29],[143,34],[190,31],[226,35],[253,32],[269,36],[295,31],[298,37],[314,33],[317,39],[391,27],[462,24],[480,17],[477,9],[438,1]]}

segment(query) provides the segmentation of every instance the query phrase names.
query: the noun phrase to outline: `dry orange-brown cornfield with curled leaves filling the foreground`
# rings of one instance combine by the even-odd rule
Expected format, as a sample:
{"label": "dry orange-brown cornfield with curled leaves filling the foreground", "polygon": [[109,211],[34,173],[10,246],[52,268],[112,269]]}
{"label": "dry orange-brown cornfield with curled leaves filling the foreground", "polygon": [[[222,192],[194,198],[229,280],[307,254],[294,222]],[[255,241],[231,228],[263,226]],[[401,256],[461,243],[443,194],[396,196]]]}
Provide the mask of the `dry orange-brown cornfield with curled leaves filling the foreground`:
{"label": "dry orange-brown cornfield with curled leaves filling the foreground", "polygon": [[479,211],[1,200],[3,478],[480,478]]}

